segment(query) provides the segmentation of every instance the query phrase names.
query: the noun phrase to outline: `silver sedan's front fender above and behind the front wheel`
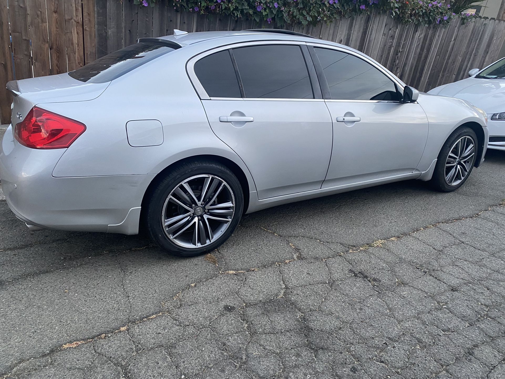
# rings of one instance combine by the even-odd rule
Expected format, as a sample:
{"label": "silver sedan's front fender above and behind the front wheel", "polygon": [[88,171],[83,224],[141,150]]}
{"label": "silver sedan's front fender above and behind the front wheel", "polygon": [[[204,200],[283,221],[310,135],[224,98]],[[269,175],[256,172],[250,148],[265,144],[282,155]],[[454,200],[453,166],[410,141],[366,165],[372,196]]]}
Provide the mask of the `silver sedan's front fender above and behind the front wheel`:
{"label": "silver sedan's front fender above and behind the front wheel", "polygon": [[419,171],[428,170],[449,135],[458,127],[467,122],[485,125],[480,113],[460,99],[423,93],[419,95],[418,103],[423,107],[429,124],[428,141],[419,162]]}

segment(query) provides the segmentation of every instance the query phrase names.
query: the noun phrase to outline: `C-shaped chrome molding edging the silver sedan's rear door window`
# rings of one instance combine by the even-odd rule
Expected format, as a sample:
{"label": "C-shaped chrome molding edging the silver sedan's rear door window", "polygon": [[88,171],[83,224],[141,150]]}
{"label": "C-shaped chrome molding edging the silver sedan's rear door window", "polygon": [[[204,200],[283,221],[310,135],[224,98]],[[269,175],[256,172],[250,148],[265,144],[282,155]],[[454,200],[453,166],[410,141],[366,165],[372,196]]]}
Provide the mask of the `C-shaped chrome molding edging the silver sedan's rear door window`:
{"label": "C-shaped chrome molding edging the silver sedan's rear door window", "polygon": [[223,50],[230,50],[230,49],[235,49],[235,48],[242,48],[244,46],[256,46],[256,45],[306,45],[306,42],[302,41],[294,41],[294,40],[286,40],[286,41],[279,41],[279,40],[262,40],[262,41],[247,41],[247,42],[238,42],[238,43],[232,43],[224,46],[219,46],[219,48],[211,49],[206,52],[200,53],[198,55],[195,55],[193,58],[191,58],[189,61],[186,63],[186,72],[189,76],[189,80],[191,80],[191,83],[193,84],[194,89],[196,90],[196,93],[198,93],[198,96],[200,97],[201,100],[282,100],[282,101],[323,101],[322,99],[268,99],[268,98],[261,98],[261,99],[252,99],[252,98],[211,98],[208,94],[207,91],[205,90],[204,86],[201,85],[200,81],[198,80],[198,77],[196,76],[194,72],[194,64],[199,61],[202,58],[205,58],[211,54],[221,52]]}

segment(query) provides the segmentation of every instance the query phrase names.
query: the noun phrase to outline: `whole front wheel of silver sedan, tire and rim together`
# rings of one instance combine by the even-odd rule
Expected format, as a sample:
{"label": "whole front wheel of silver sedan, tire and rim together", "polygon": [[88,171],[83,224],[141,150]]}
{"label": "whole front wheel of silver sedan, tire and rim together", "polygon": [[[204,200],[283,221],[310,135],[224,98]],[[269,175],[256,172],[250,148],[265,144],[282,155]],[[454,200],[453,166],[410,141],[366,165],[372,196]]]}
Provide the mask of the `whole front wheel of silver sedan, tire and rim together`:
{"label": "whole front wheel of silver sedan, tire and rim together", "polygon": [[445,141],[431,179],[438,191],[452,192],[468,179],[477,156],[477,135],[469,127],[456,129]]}

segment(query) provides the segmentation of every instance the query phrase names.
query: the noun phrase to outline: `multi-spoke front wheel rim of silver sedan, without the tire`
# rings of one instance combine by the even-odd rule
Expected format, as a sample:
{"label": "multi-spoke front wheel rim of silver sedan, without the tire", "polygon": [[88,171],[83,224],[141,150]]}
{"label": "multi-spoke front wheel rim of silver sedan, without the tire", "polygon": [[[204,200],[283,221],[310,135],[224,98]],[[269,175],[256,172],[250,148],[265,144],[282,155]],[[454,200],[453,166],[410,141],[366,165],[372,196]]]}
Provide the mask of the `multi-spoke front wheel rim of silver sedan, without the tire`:
{"label": "multi-spoke front wheel rim of silver sedan, without the tire", "polygon": [[475,160],[475,141],[465,135],[456,141],[445,160],[445,182],[450,186],[460,184],[468,176]]}

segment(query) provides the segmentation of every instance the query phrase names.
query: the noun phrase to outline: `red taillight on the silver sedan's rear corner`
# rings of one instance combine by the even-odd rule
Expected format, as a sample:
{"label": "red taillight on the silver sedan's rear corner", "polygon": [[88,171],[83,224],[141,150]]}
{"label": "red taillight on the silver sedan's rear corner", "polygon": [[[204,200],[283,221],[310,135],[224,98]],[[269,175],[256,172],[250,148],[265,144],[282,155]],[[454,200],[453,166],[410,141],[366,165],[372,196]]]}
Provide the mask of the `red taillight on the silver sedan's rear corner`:
{"label": "red taillight on the silver sedan's rear corner", "polygon": [[33,107],[25,119],[16,124],[14,136],[21,145],[32,149],[64,149],[86,130],[86,125]]}

